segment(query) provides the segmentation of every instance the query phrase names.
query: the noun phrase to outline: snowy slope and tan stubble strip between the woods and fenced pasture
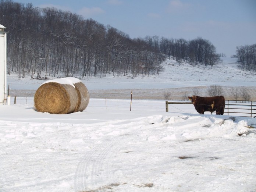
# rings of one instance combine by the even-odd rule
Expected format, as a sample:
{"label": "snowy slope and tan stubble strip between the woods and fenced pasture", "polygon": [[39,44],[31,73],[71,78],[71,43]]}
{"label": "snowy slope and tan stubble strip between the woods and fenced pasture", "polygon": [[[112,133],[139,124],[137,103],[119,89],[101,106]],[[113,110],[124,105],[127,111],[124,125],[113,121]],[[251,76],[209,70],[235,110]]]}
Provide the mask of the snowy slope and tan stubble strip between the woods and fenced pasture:
{"label": "snowy slope and tan stubble strip between the woods and fenced pasture", "polygon": [[[164,99],[164,92],[171,92],[173,100],[181,100],[183,92],[192,94],[192,87],[198,87],[200,96],[207,96],[207,86],[220,85],[223,87],[225,98],[231,98],[232,87],[247,87],[252,100],[256,100],[256,75],[240,69],[236,58],[222,58],[223,63],[211,66],[189,65],[175,60],[166,60],[163,63],[164,72],[160,75],[132,78],[132,75],[117,77],[108,74],[104,78],[92,77],[81,79],[94,98],[128,99],[133,91],[137,99]],[[36,77],[36,75],[34,75]],[[76,77],[76,76],[75,76]],[[52,78],[47,76],[47,78]],[[33,97],[42,80],[18,78],[17,74],[7,75],[12,97]]]}

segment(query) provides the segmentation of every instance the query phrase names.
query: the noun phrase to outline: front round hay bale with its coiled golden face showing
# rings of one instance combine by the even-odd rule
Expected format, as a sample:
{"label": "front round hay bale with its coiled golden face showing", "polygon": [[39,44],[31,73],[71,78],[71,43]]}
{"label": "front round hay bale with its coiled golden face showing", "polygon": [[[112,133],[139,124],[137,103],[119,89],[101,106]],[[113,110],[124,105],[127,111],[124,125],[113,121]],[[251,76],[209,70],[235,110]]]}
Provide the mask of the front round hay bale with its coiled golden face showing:
{"label": "front round hay bale with its coiled golden face showing", "polygon": [[34,102],[39,112],[67,114],[75,111],[78,95],[72,85],[47,82],[36,90]]}

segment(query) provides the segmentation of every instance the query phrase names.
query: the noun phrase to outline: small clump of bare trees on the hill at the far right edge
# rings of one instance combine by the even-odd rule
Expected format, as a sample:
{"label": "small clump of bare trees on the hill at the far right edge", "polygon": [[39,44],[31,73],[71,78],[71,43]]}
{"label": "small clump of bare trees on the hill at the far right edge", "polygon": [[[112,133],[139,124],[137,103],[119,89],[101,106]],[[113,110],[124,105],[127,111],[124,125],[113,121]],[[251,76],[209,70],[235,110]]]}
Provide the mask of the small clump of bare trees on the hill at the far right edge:
{"label": "small clump of bare trees on the hill at the far right edge", "polygon": [[237,58],[243,70],[256,72],[256,44],[238,46]]}

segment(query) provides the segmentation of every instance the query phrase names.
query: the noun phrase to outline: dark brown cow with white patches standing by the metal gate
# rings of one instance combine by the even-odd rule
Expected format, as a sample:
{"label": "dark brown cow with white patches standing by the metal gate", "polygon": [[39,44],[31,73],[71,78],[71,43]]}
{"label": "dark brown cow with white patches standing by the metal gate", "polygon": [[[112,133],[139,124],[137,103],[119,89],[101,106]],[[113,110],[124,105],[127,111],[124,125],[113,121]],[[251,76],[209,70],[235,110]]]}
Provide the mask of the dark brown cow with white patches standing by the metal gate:
{"label": "dark brown cow with white patches standing by the metal gate", "polygon": [[223,96],[215,97],[199,97],[191,96],[188,97],[194,104],[196,111],[199,114],[204,114],[205,111],[210,111],[213,114],[213,111],[216,111],[217,115],[223,115],[225,109],[225,98]]}

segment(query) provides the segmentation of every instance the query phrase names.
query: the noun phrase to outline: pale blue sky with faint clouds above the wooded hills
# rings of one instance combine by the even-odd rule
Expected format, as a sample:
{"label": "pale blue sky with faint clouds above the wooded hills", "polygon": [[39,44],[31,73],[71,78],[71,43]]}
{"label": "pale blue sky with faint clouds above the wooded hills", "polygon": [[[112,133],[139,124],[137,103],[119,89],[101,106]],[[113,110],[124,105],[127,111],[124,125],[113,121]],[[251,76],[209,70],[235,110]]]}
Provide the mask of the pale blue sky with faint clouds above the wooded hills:
{"label": "pale blue sky with faint clouds above the wooded hills", "polygon": [[92,18],[130,38],[197,37],[209,40],[227,57],[236,46],[256,43],[256,0],[13,0],[56,7]]}

